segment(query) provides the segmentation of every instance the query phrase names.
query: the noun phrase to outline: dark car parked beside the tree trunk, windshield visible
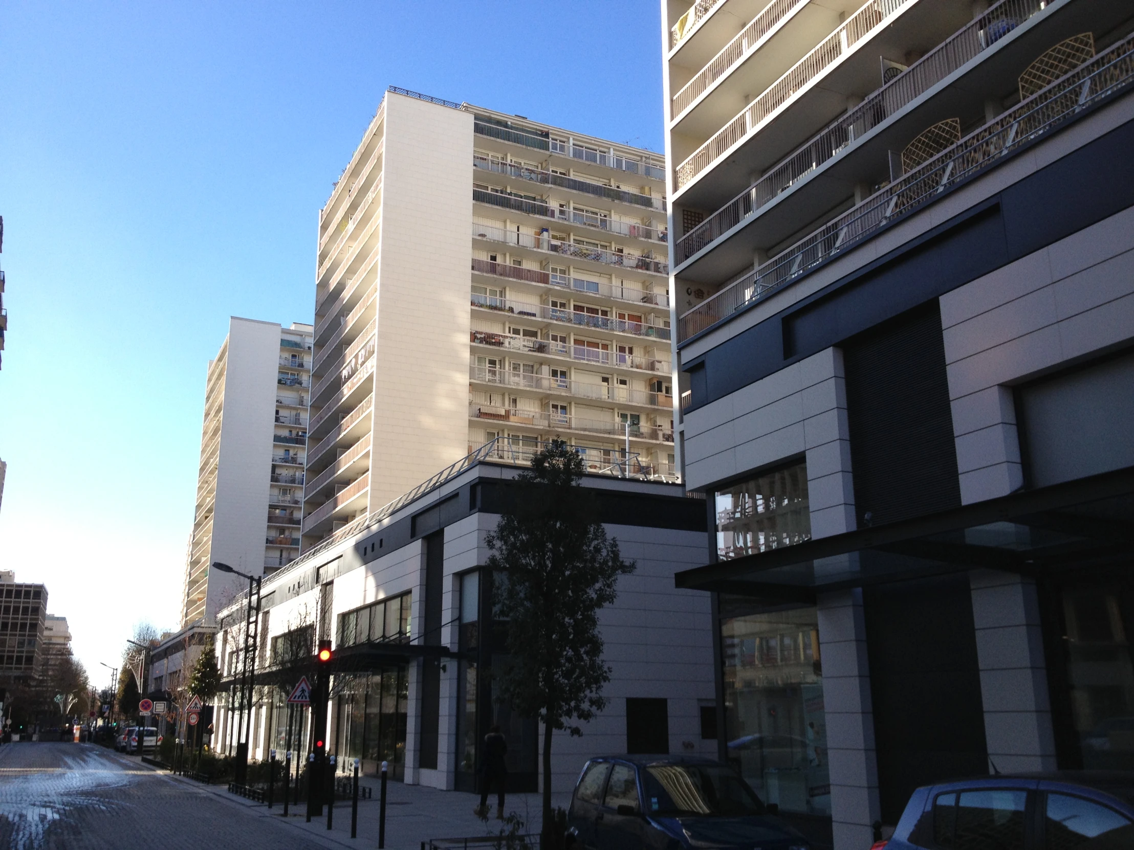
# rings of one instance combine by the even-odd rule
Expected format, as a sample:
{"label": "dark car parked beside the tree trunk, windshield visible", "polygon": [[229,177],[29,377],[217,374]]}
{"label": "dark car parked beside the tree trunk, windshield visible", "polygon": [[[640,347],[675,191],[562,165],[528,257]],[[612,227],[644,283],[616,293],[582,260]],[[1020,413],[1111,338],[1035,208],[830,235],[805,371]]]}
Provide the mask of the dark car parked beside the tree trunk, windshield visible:
{"label": "dark car parked beside the tree trunk, windshield visible", "polygon": [[810,850],[728,765],[679,756],[606,756],[583,767],[567,813],[573,850]]}

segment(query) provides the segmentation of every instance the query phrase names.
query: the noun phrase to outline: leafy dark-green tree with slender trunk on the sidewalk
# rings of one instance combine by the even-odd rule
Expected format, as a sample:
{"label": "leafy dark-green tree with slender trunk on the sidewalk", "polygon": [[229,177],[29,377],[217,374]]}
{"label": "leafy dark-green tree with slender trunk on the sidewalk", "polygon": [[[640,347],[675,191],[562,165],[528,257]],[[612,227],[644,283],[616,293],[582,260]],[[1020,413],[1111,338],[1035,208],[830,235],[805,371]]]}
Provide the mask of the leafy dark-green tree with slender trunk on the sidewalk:
{"label": "leafy dark-green tree with slender trunk on the sidewalk", "polygon": [[517,476],[515,508],[486,538],[498,615],[508,620],[509,660],[493,671],[499,695],[543,724],[541,847],[556,845],[551,814],[551,733],[583,733],[607,700],[599,611],[615,601],[618,577],[633,572],[618,541],[596,521],[579,486],[583,460],[561,440]]}

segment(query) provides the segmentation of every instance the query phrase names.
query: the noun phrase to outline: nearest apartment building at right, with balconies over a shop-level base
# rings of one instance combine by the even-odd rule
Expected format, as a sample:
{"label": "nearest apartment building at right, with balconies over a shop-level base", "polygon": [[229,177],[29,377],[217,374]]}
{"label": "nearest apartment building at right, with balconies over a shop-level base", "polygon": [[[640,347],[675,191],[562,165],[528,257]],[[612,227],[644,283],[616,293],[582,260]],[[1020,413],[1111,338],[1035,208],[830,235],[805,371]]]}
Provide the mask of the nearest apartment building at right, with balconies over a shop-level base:
{"label": "nearest apartment building at right, with balconies over a shop-level base", "polygon": [[720,756],[836,850],[1134,767],[1134,7],[661,9]]}

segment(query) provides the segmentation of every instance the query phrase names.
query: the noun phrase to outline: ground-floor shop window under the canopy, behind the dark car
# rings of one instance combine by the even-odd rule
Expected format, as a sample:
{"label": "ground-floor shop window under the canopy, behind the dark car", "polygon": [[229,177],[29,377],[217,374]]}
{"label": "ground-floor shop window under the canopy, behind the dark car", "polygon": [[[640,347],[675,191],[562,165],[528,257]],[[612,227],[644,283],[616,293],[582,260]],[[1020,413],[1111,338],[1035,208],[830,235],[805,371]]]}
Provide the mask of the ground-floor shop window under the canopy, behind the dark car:
{"label": "ground-floor shop window under the canopy, behind the dark car", "polygon": [[830,815],[815,609],[759,611],[722,595],[728,760],[765,802]]}

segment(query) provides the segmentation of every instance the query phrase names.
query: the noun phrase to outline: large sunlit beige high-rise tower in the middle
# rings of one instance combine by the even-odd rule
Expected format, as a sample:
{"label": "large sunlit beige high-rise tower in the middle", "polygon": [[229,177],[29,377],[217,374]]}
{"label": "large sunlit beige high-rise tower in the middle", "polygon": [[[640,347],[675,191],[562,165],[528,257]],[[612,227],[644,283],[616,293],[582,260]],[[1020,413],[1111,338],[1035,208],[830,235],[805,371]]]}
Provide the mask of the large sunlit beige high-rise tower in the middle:
{"label": "large sunlit beige high-rise tower in the middle", "polygon": [[663,160],[391,88],[320,213],[304,545],[494,441],[674,470]]}

